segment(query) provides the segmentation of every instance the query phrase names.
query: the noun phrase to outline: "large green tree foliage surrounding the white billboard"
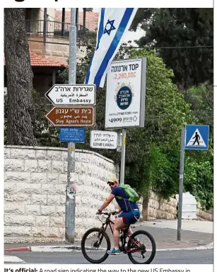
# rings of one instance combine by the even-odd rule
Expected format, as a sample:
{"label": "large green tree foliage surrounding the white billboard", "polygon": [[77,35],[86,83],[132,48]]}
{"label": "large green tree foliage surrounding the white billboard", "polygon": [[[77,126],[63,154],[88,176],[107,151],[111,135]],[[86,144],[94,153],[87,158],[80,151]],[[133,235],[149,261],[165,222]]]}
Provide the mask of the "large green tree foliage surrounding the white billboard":
{"label": "large green tree foliage surrounding the white billboard", "polygon": [[[82,60],[81,64],[77,65],[77,83],[83,83],[86,75],[86,70],[93,54],[93,48],[88,49],[88,55]],[[166,69],[163,60],[160,59],[153,51],[147,50],[132,50],[129,47],[121,47],[116,58],[122,57],[146,57],[147,72],[146,72],[146,113],[145,113],[145,128],[130,128],[127,129],[127,145],[126,145],[126,160],[125,160],[125,181],[136,188],[141,193],[148,190],[150,186],[158,188],[160,174],[158,180],[153,179],[149,173],[156,168],[156,162],[153,163],[150,155],[152,143],[160,152],[165,152],[168,158],[168,164],[161,164],[161,171],[169,171],[170,166],[176,166],[174,171],[170,172],[168,177],[165,171],[164,181],[158,192],[164,191],[164,196],[170,196],[171,192],[175,193],[177,187],[175,183],[171,191],[167,191],[168,184],[172,183],[172,179],[178,179],[177,161],[172,162],[170,153],[174,147],[180,145],[180,134],[184,124],[189,116],[189,105],[185,103],[183,95],[177,91],[177,86],[172,83],[170,77],[173,76],[171,69]],[[61,73],[62,79],[65,81],[68,78],[68,71]],[[105,130],[105,90],[106,86],[96,91],[96,127],[94,130]],[[90,129],[88,129],[90,131]],[[86,143],[76,145],[79,148],[91,149],[89,146],[89,135],[86,132]],[[93,149],[105,157],[113,159],[116,163],[120,162],[120,154],[110,149]],[[161,153],[160,153],[161,154]],[[151,166],[151,167],[148,167]],[[177,176],[175,176],[177,174]]]}

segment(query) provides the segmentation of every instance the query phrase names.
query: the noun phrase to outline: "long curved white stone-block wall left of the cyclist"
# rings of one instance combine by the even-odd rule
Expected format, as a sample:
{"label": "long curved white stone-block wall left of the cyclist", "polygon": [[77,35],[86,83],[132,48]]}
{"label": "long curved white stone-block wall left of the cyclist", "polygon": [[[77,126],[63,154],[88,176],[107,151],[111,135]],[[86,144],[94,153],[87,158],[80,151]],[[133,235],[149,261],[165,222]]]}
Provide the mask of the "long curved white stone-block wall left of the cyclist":
{"label": "long curved white stone-block wall left of the cyclist", "polygon": [[[64,241],[66,149],[6,146],[4,158],[4,242]],[[76,239],[101,224],[95,212],[118,173],[112,160],[76,150]]]}

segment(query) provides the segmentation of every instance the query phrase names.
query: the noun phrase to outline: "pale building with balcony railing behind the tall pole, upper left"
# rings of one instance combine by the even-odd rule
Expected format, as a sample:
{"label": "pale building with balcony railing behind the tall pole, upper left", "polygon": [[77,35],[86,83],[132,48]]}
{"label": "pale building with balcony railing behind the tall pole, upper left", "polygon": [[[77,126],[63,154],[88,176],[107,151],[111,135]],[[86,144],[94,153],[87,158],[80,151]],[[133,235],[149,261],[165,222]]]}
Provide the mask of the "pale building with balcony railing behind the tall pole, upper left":
{"label": "pale building with balcony railing behind the tall pole, upper left", "polygon": [[[64,62],[69,58],[70,9],[26,8],[26,29],[30,50]],[[83,12],[78,12],[77,62],[86,55],[88,36],[98,26],[98,12],[87,11],[83,26]]]}

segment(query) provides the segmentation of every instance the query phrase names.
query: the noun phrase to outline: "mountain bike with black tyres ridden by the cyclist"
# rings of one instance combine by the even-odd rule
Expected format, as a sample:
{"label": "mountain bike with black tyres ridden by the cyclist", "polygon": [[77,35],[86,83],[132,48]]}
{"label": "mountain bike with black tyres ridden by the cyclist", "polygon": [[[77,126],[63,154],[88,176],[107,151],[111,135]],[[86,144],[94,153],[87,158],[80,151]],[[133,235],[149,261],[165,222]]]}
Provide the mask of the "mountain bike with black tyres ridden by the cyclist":
{"label": "mountain bike with black tyres ridden by the cyclist", "polygon": [[[113,222],[110,219],[110,217],[111,215],[117,215],[117,212],[101,212],[101,214],[107,215],[107,217],[105,217],[105,222],[102,222],[102,227],[93,227],[91,229],[88,229],[88,231],[85,234],[83,234],[83,237],[81,239],[81,251],[85,259],[88,260],[90,263],[102,263],[110,255],[107,254],[107,250],[110,250],[111,242],[110,237],[106,232],[106,229],[109,226],[113,234],[113,226],[115,225],[115,222]],[[127,254],[132,263],[136,264],[151,263],[151,261],[153,261],[156,255],[156,242],[153,239],[153,236],[149,232],[146,232],[145,230],[142,229],[137,230],[136,232],[134,232],[134,234],[130,236],[127,233],[128,229],[129,227],[127,227],[126,229],[119,230],[120,251],[122,251],[124,254]],[[94,233],[96,235],[94,235]],[[143,235],[144,237],[148,237],[148,239],[151,241],[151,249],[148,249],[148,245],[144,244],[141,237],[139,237],[140,234]],[[139,237],[140,239],[138,239],[137,237]],[[91,239],[92,242],[89,242],[88,239]],[[105,246],[103,246],[103,242],[105,243]],[[86,245],[86,243],[90,244],[90,246]],[[150,252],[151,256],[148,259],[146,259],[146,255]],[[101,254],[102,256],[100,257],[100,259],[93,259],[93,256],[90,257],[91,253]],[[133,255],[134,253],[137,253],[139,255],[137,256],[137,259]],[[143,262],[139,262],[140,259]]]}

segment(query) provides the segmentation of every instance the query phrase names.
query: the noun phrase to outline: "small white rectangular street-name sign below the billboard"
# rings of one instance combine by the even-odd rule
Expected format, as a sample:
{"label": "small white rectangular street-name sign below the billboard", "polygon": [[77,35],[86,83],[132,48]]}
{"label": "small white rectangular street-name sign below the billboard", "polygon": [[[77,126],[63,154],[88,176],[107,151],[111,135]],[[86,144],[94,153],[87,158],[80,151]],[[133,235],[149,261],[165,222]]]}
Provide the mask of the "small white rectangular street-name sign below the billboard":
{"label": "small white rectangular street-name sign below the billboard", "polygon": [[90,131],[90,147],[92,148],[117,148],[117,132],[105,130]]}

